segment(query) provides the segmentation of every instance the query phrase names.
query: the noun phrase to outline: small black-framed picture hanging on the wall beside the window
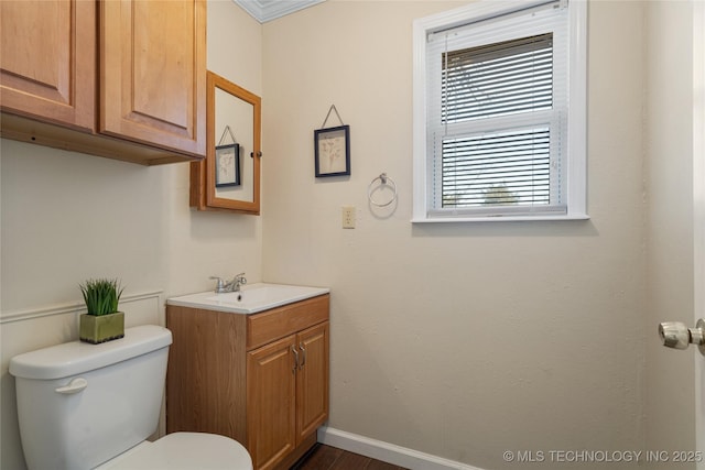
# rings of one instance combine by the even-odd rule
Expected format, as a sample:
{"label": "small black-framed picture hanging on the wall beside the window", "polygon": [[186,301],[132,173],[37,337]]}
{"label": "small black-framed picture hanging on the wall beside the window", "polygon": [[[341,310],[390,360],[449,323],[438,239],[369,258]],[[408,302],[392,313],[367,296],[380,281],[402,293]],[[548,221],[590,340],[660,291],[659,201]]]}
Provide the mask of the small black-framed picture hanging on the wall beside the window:
{"label": "small black-framed picture hanging on the wall beside the window", "polygon": [[350,174],[350,127],[314,131],[316,177]]}

